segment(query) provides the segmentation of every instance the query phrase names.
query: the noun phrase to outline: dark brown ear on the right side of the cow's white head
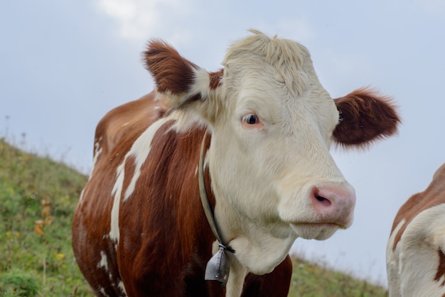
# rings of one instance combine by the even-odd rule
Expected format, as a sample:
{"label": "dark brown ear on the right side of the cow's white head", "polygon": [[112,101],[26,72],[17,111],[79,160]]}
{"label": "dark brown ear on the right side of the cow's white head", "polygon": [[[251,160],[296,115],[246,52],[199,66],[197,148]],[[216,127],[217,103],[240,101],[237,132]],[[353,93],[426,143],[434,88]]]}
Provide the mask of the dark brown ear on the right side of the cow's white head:
{"label": "dark brown ear on the right side of the cow's white head", "polygon": [[397,133],[400,117],[389,97],[361,88],[334,99],[340,120],[333,140],[343,147],[361,148]]}

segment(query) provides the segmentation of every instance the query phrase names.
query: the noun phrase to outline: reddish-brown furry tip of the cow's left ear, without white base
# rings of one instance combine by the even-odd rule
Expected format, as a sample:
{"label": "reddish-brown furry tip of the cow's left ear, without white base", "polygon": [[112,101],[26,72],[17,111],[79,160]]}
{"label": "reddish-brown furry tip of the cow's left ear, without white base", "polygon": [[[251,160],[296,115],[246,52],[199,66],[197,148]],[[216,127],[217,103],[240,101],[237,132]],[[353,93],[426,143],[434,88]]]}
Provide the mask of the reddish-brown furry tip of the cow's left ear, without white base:
{"label": "reddish-brown furry tip of the cow's left ear, without white base", "polygon": [[193,85],[198,66],[183,58],[171,45],[159,40],[149,43],[144,52],[146,69],[151,72],[159,92],[178,94]]}

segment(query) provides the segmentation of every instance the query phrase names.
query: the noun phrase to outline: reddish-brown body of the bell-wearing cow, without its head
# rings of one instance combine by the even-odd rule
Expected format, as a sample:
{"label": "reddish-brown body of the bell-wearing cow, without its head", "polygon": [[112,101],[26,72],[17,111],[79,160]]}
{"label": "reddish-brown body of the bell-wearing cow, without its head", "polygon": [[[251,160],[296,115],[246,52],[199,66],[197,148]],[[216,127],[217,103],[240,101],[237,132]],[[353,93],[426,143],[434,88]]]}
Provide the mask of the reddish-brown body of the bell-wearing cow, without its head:
{"label": "reddish-brown body of the bell-wearing cow, without its head", "polygon": [[[77,263],[97,296],[225,295],[218,282],[203,277],[215,241],[195,170],[205,131],[176,135],[171,121],[161,119],[165,109],[151,93],[112,109],[97,125],[94,168],[73,220]],[[150,156],[132,185],[138,161],[131,150],[149,130]],[[286,296],[291,266],[287,257],[271,274],[247,276],[242,296]]]}

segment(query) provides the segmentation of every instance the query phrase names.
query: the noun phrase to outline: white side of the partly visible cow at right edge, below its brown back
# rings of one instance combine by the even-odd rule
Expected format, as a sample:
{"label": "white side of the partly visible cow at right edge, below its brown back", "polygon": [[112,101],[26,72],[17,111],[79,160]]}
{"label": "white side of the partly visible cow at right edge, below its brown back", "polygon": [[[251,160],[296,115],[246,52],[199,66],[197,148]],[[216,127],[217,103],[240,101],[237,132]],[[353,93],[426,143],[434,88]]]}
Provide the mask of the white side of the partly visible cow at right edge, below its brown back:
{"label": "white side of the partly visible cow at right edge, below its brown back", "polygon": [[[400,226],[402,222],[397,228]],[[435,278],[439,250],[445,249],[445,204],[431,207],[414,217],[392,251],[396,231],[387,245],[390,296],[444,296],[444,278]]]}

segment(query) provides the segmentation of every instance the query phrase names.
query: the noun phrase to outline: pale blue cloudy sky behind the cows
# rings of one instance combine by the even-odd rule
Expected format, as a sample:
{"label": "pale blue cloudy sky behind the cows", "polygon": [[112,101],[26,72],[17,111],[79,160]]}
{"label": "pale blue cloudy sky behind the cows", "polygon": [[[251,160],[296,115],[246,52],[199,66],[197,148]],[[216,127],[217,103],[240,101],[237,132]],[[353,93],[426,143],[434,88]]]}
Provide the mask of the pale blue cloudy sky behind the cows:
{"label": "pale blue cloudy sky behind the cows", "polygon": [[0,137],[88,173],[97,122],[154,87],[150,38],[214,71],[249,28],[306,45],[332,97],[369,85],[400,106],[398,136],[333,151],[357,193],[353,226],[293,249],[386,285],[392,220],[445,161],[445,1],[1,1]]}

